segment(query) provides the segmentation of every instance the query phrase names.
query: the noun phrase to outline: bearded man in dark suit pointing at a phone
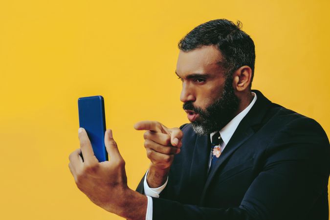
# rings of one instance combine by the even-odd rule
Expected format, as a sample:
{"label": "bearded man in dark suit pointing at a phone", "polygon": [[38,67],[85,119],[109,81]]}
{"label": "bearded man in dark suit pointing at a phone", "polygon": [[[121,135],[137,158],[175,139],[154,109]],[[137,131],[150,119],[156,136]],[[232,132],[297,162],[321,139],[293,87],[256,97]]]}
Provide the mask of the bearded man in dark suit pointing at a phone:
{"label": "bearded man in dark suit pointing at a phone", "polygon": [[111,130],[105,134],[110,160],[102,163],[79,130],[81,149],[69,156],[78,188],[132,220],[328,220],[327,135],[313,119],[251,91],[254,44],[240,23],[201,24],[179,48],[180,100],[191,123],[180,129],[135,124],[147,130],[151,160],[141,194],[127,186]]}

